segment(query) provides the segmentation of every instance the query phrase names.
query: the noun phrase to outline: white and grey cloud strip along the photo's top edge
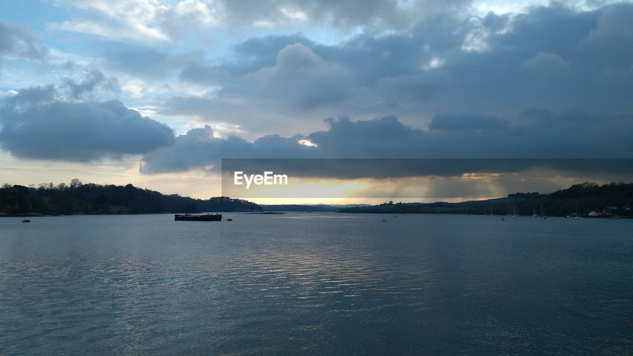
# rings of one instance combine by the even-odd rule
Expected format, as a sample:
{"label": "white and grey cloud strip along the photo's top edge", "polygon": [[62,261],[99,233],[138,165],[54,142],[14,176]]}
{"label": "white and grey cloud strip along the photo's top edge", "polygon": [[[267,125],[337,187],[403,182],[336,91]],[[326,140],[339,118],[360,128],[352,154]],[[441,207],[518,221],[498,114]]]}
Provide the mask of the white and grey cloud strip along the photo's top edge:
{"label": "white and grey cloud strip along the photo's top edge", "polygon": [[58,0],[83,17],[54,23],[58,30],[168,42],[206,27],[228,31],[274,29],[309,23],[342,31],[409,29],[420,18],[463,10],[471,0]]}

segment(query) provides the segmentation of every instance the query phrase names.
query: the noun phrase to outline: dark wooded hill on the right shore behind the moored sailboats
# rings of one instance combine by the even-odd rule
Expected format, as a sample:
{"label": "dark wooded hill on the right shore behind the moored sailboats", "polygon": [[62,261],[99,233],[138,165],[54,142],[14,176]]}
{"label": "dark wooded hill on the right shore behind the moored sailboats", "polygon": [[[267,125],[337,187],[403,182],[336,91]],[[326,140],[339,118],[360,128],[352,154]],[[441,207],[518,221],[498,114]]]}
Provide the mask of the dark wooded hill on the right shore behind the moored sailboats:
{"label": "dark wooded hill on the right shore behind the moored sailboats", "polygon": [[[575,184],[567,189],[549,194],[515,193],[505,198],[472,200],[460,203],[384,203],[370,207],[345,208],[343,213],[471,213],[506,215],[540,214],[541,204],[545,215],[565,216],[577,212],[588,215],[598,212],[603,215],[633,217],[633,184],[610,183],[599,186],[596,183]],[[615,208],[615,209],[614,209]]]}

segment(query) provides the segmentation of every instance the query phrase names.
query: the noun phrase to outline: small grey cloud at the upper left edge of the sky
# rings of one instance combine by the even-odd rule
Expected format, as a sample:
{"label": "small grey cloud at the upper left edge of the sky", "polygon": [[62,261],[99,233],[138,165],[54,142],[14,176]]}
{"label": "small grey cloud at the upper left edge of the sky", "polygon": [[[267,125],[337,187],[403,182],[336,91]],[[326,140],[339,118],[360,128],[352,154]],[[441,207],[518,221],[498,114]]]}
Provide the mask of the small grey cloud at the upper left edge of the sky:
{"label": "small grey cloud at the upper left edge of the sky", "polygon": [[3,56],[42,60],[48,56],[48,49],[22,26],[0,22],[0,57]]}

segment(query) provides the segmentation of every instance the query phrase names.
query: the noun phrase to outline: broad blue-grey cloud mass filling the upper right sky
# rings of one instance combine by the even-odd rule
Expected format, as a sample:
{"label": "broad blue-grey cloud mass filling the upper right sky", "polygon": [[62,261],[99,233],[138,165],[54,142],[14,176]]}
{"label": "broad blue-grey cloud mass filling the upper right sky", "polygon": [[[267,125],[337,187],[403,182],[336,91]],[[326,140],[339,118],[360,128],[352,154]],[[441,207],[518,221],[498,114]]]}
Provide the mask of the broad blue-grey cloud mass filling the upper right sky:
{"label": "broad blue-grey cloud mass filling the upper right sky", "polygon": [[[251,37],[223,63],[186,65],[180,80],[212,92],[174,96],[162,113],[237,124],[249,137],[307,134],[336,115],[396,115],[412,127],[449,111],[511,124],[530,108],[624,115],[633,111],[632,13],[633,4],[585,11],[551,3],[514,15],[441,12],[408,30],[362,32],[339,44]],[[473,36],[477,51],[464,47]]]}

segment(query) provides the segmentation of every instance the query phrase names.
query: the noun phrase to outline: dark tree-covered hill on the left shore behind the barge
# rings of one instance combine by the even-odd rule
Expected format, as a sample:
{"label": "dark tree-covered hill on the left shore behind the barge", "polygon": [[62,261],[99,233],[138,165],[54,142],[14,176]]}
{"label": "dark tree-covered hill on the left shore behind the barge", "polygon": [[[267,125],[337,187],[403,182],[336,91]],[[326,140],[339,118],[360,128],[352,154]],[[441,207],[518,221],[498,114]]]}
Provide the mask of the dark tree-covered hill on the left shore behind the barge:
{"label": "dark tree-covered hill on the left shore behind the barge", "polygon": [[261,212],[256,203],[226,196],[208,200],[179,194],[165,195],[149,189],[127,186],[53,183],[25,187],[4,184],[0,188],[3,215],[33,213],[199,213]]}

